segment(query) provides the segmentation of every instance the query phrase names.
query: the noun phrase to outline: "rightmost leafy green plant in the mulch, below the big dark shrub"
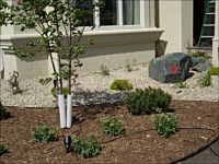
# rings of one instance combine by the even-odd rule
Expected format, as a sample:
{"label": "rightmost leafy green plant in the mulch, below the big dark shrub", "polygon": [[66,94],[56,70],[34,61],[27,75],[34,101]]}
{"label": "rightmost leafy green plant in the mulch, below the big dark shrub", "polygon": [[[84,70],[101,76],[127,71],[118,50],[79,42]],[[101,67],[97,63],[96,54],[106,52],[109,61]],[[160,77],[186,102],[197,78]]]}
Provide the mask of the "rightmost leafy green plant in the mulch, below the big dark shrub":
{"label": "rightmost leafy green plant in the mulch, below the big dark shrub", "polygon": [[177,115],[159,114],[152,116],[151,121],[155,125],[157,132],[163,138],[169,138],[176,132]]}

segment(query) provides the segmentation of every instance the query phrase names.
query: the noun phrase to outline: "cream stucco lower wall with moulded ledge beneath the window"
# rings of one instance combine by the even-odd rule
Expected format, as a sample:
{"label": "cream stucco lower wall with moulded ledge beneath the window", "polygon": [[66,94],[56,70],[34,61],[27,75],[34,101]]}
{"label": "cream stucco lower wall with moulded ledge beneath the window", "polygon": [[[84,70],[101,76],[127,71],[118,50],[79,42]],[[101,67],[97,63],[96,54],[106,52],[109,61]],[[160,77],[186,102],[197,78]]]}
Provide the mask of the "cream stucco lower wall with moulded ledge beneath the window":
{"label": "cream stucco lower wall with moulded ledge beneath the window", "polygon": [[[159,28],[87,32],[82,42],[92,38],[94,45],[89,47],[81,57],[84,65],[79,71],[100,71],[101,65],[110,69],[125,67],[127,60],[135,60],[136,63],[149,62],[155,57],[155,40],[162,32]],[[38,35],[33,33],[14,34],[10,37],[4,35],[0,44],[4,44],[4,47],[13,45],[28,51],[33,49],[26,48],[26,42],[37,37]],[[13,70],[19,71],[21,79],[49,77],[53,73],[49,57],[45,52],[37,54],[33,58],[20,59],[9,48],[2,50],[5,66],[3,79],[9,79]]]}

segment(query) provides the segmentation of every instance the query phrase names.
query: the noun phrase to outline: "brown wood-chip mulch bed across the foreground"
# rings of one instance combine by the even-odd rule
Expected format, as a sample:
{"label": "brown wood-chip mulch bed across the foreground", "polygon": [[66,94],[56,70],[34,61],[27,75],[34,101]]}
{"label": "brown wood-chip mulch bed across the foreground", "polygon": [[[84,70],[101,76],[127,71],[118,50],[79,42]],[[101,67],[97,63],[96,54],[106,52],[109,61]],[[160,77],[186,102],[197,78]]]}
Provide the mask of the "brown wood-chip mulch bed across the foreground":
{"label": "brown wood-chip mulch bed across the foreground", "polygon": [[[7,107],[11,117],[0,121],[0,141],[7,148],[0,163],[171,163],[216,138],[218,105],[218,102],[172,101],[170,112],[180,116],[178,131],[169,139],[155,132],[151,116],[132,116],[123,103],[74,107],[74,125],[65,130],[59,128],[57,108]],[[124,134],[104,134],[100,118],[112,115],[123,120]],[[31,128],[41,122],[57,129],[56,141],[35,143],[32,140]],[[82,139],[94,134],[101,143],[101,154],[92,159],[83,159],[73,152],[67,154],[64,136],[73,134]]]}

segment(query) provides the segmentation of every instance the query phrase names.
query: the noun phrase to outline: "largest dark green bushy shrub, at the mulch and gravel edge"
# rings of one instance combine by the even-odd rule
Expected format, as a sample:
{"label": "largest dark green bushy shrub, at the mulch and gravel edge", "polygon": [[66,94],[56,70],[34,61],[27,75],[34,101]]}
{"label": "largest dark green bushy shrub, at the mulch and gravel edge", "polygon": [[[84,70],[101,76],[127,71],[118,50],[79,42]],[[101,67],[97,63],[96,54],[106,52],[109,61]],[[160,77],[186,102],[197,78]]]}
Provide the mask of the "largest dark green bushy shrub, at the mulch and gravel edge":
{"label": "largest dark green bushy shrub, at the mulch and gravel edge", "polygon": [[146,87],[129,92],[125,104],[132,115],[151,114],[157,110],[165,112],[169,108],[172,96],[161,89]]}

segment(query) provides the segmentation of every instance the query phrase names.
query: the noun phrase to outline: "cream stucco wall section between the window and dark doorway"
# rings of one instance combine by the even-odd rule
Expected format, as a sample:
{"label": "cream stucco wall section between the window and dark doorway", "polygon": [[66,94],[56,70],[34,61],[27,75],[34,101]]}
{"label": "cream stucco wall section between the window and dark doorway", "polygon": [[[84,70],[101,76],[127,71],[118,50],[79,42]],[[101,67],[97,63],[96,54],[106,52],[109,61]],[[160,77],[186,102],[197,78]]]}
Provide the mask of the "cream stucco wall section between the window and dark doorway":
{"label": "cream stucco wall section between the window and dark doorway", "polygon": [[186,51],[193,45],[193,1],[160,0],[159,25],[164,30],[161,39],[165,40],[164,54]]}

